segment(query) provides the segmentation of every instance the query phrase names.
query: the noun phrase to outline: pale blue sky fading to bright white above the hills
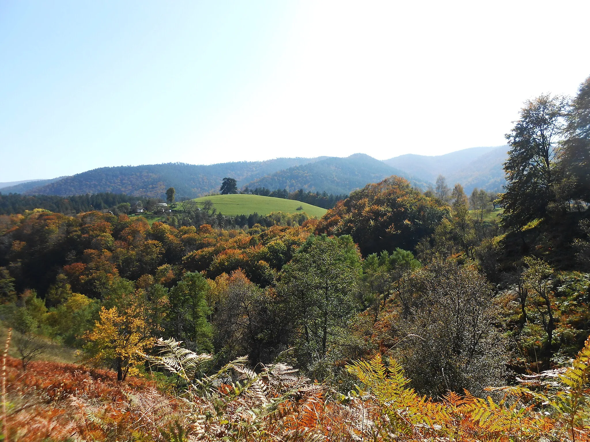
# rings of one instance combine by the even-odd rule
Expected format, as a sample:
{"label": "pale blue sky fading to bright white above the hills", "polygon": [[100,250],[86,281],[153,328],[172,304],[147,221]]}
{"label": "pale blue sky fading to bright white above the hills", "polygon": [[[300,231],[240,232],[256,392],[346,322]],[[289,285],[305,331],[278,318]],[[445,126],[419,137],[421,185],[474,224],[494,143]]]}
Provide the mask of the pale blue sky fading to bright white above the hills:
{"label": "pale blue sky fading to bright white above the hills", "polygon": [[0,182],[505,144],[590,75],[585,1],[0,2]]}

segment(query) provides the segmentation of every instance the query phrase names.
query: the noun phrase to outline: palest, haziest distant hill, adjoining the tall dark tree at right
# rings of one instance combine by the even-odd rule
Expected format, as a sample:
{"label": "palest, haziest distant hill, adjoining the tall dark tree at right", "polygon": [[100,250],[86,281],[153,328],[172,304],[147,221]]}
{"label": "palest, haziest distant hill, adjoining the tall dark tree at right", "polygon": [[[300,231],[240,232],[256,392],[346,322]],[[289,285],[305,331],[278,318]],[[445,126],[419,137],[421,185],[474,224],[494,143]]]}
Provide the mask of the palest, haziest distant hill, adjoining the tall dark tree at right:
{"label": "palest, haziest distant hill, adjoining the tall dark tree at right", "polygon": [[501,191],[506,183],[502,166],[508,150],[509,146],[471,147],[436,156],[400,155],[383,163],[430,183],[442,174],[449,186],[461,183],[467,193],[474,187]]}

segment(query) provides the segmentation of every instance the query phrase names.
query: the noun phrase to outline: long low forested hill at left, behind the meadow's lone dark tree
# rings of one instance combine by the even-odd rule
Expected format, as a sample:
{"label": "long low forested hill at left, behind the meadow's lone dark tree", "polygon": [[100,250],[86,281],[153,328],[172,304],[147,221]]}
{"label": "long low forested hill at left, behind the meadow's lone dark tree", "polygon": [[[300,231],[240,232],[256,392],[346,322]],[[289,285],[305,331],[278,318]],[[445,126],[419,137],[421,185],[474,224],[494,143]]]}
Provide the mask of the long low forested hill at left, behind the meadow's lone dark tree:
{"label": "long low forested hill at left, behind the meadow's lone dark tree", "polygon": [[146,166],[101,167],[65,177],[44,186],[28,189],[27,194],[76,195],[86,193],[126,193],[128,195],[163,197],[168,187],[179,197],[196,197],[219,190],[224,177],[233,177],[238,185],[287,167],[321,160],[309,158],[278,158],[268,161],[195,166],[167,163]]}

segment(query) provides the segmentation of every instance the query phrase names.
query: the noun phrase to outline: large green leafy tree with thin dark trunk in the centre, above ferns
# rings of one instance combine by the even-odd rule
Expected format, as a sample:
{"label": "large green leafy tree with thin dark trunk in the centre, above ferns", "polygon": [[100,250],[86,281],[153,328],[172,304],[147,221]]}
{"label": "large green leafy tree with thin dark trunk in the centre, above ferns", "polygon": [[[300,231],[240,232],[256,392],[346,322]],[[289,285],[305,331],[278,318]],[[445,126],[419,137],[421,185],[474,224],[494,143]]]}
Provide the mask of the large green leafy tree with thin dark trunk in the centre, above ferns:
{"label": "large green leafy tree with thin dark trunk in the centre, above ferns", "polygon": [[[311,236],[281,271],[279,291],[296,330],[301,362],[310,370],[349,344],[360,256],[350,236]],[[321,370],[321,368],[320,368]]]}

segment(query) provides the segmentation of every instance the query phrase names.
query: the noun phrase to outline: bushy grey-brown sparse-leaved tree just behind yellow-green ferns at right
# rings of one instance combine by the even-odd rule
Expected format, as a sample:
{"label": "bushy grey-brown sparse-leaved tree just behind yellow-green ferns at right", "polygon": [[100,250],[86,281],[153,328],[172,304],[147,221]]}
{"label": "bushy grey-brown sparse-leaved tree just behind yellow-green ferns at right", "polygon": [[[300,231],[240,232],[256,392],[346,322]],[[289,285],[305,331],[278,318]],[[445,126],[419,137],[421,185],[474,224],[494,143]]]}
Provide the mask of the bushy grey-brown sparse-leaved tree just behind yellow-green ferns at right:
{"label": "bushy grey-brown sparse-leaved tree just behind yellow-green ferns at right", "polygon": [[[496,330],[491,286],[474,265],[434,262],[408,282],[415,299],[407,318],[384,315],[401,362],[420,394],[437,397],[466,388],[504,385],[506,341]],[[391,319],[389,319],[391,318]],[[385,322],[386,322],[385,321]]]}

